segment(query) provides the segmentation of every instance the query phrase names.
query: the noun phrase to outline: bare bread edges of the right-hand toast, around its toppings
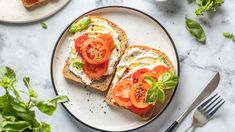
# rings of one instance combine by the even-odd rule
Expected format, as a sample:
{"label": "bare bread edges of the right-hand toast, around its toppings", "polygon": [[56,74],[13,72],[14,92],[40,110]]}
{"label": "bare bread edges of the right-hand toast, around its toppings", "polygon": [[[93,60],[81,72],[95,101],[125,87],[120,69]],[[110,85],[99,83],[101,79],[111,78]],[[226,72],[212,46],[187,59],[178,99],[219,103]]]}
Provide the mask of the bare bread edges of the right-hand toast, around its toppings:
{"label": "bare bread edges of the right-hand toast, around its toppings", "polygon": [[[147,46],[131,45],[131,46],[129,46],[129,47],[125,50],[125,53],[127,53],[129,50],[131,50],[131,49],[133,49],[133,48],[139,48],[139,49],[145,50],[145,51],[152,51],[152,52],[158,54],[159,56],[161,56],[161,57],[164,59],[164,63],[168,66],[169,70],[170,70],[171,72],[174,72],[174,66],[173,66],[172,62],[171,62],[170,59],[166,56],[166,54],[163,53],[163,52],[161,52],[160,50],[157,50],[157,49],[154,49],[154,48],[150,48],[150,47],[147,47]],[[125,57],[125,54],[122,56],[122,58],[121,58],[120,61],[122,61],[122,59],[123,59],[124,57]],[[116,78],[116,75],[114,76],[114,79],[115,79],[115,78]],[[121,78],[120,78],[120,79],[121,79]],[[105,101],[106,101],[109,105],[111,105],[111,106],[115,106],[115,107],[120,107],[120,108],[126,109],[125,107],[122,107],[122,106],[118,105],[118,104],[114,101],[114,98],[112,97],[112,92],[113,92],[113,88],[114,88],[115,85],[116,85],[116,83],[112,83],[112,84],[110,85],[110,89],[109,89],[108,94],[107,94],[107,96],[106,96],[106,98],[105,98]],[[168,98],[168,95],[170,95],[171,92],[172,92],[172,91],[166,92],[166,98]],[[166,99],[166,100],[167,100],[167,99]],[[162,104],[161,104],[161,105],[162,105]],[[126,110],[130,111],[131,113],[135,114],[136,116],[140,117],[140,118],[143,119],[143,120],[148,120],[148,119],[150,119],[150,118],[152,117],[155,108],[156,108],[156,105],[154,106],[154,108],[153,108],[151,111],[145,113],[144,115],[135,114],[135,113],[131,112],[129,109],[126,109]]]}

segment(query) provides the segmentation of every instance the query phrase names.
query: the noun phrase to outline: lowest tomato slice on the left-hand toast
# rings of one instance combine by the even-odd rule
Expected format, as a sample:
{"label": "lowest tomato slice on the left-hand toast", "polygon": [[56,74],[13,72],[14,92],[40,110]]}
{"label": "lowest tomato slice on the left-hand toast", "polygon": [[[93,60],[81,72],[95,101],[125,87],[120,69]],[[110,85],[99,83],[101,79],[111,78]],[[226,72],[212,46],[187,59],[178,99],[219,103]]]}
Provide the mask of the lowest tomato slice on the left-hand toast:
{"label": "lowest tomato slice on the left-hand toast", "polygon": [[86,61],[83,61],[84,63],[84,72],[92,79],[99,79],[104,75],[108,68],[108,62],[104,62],[102,64],[89,64]]}

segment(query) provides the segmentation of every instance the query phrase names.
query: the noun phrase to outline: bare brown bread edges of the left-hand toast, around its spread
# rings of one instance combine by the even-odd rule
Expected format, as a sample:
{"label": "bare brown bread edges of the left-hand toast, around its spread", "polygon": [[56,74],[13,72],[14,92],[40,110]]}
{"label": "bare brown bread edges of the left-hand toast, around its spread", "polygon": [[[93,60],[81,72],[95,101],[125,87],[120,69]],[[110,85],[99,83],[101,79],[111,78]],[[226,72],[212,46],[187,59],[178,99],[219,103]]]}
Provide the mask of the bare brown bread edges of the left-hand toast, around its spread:
{"label": "bare brown bread edges of the left-hand toast, around its spread", "polygon": [[[121,28],[119,28],[116,24],[114,24],[113,22],[109,21],[106,18],[103,18],[101,16],[88,16],[88,17],[90,17],[90,18],[98,18],[98,19],[102,19],[102,20],[106,21],[108,23],[108,25],[110,27],[112,27],[112,29],[119,34],[118,39],[119,39],[120,45],[121,45],[121,55],[120,55],[120,57],[118,59],[118,61],[119,61],[121,56],[122,56],[122,54],[124,53],[124,51],[126,49],[126,46],[127,46],[127,36],[126,36],[126,33]],[[80,19],[78,19],[77,21],[79,21],[79,20]],[[109,88],[109,85],[110,85],[110,83],[112,81],[112,78],[114,76],[114,72],[115,72],[116,65],[117,65],[118,61],[115,63],[115,65],[113,67],[114,70],[113,70],[113,73],[111,75],[103,76],[99,80],[93,80],[92,83],[89,85],[89,87],[97,89],[99,91],[106,91]],[[63,75],[68,80],[75,81],[77,83],[85,85],[85,83],[82,81],[81,78],[77,77],[76,75],[74,75],[69,70],[69,61],[68,61],[68,59],[66,60],[64,68],[63,68]]]}

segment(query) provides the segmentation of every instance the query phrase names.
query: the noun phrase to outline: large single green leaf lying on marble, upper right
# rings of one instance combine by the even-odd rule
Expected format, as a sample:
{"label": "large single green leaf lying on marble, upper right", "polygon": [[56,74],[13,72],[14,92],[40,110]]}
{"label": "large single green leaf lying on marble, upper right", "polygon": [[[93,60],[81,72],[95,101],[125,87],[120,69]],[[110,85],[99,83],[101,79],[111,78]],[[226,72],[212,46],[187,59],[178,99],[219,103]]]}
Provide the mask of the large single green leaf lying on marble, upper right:
{"label": "large single green leaf lying on marble, upper right", "polygon": [[201,43],[204,43],[206,41],[206,34],[199,23],[186,17],[185,26],[194,39]]}

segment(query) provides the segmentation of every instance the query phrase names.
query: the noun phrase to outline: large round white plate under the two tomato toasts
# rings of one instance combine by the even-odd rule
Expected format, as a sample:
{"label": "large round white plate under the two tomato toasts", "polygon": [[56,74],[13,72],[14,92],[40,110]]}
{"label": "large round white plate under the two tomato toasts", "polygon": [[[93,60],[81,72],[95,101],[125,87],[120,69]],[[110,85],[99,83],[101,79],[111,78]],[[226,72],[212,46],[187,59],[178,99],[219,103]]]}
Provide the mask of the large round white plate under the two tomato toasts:
{"label": "large round white plate under the two tomato toasts", "polygon": [[[101,15],[116,23],[127,33],[130,45],[144,44],[165,52],[179,74],[174,43],[166,30],[151,16],[136,9],[120,6],[98,8],[84,15],[88,14]],[[57,41],[52,55],[51,77],[56,94],[69,97],[70,102],[63,106],[73,118],[96,130],[130,131],[145,126],[165,110],[176,88],[166,92],[165,103],[156,106],[152,119],[142,121],[128,111],[107,106],[104,102],[105,93],[67,81],[63,77],[62,69],[68,55],[69,35],[67,27]]]}

